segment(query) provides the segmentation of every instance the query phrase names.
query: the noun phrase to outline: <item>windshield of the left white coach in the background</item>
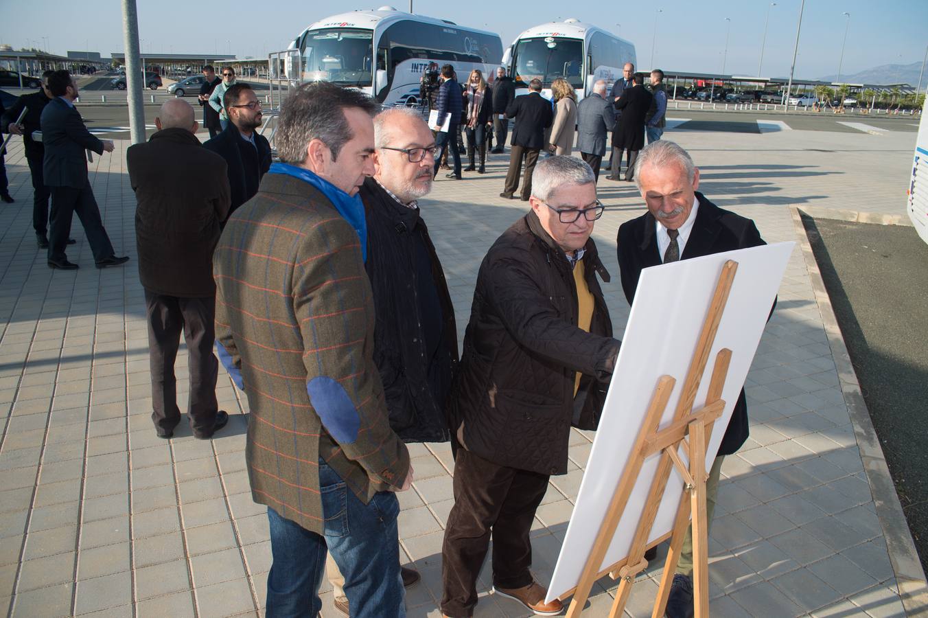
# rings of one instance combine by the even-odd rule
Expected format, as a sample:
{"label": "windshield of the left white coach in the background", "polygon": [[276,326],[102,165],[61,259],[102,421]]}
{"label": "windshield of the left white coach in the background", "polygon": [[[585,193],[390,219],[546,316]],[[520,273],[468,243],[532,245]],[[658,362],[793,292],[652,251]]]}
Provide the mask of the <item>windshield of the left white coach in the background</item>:
{"label": "windshield of the left white coach in the background", "polygon": [[325,80],[342,86],[369,86],[373,73],[373,33],[326,28],[306,32],[301,45],[303,82]]}

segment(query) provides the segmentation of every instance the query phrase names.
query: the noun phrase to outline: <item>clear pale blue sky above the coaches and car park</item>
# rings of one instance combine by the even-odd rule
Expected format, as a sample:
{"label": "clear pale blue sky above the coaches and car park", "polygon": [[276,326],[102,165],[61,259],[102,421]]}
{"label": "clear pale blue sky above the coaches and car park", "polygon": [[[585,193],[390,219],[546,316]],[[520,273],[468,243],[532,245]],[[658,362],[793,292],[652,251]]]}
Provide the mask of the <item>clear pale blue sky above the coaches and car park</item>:
{"label": "clear pale blue sky above the coaches and car park", "polygon": [[[765,76],[790,71],[800,0],[776,0],[770,10]],[[371,0],[276,0],[253,2],[191,2],[137,0],[139,31],[146,52],[231,52],[259,57],[283,49],[307,25],[346,6],[381,6]],[[574,8],[565,6],[573,4]],[[651,59],[651,40],[657,8],[655,65],[672,71],[721,72],[726,27],[730,18],[726,73],[755,75],[764,19],[770,0],[414,0],[416,13],[451,19],[462,25],[498,32],[507,46],[522,30],[552,19],[575,17],[618,32],[635,44],[638,63]],[[3,20],[0,43],[67,50],[99,51],[104,56],[122,52],[122,12],[116,0],[0,0]],[[405,3],[393,3],[408,9]],[[844,74],[883,64],[922,62],[928,44],[928,0],[806,0],[796,76],[817,78],[835,73],[841,54],[844,26],[851,14],[844,51]],[[621,24],[617,26],[616,24]]]}

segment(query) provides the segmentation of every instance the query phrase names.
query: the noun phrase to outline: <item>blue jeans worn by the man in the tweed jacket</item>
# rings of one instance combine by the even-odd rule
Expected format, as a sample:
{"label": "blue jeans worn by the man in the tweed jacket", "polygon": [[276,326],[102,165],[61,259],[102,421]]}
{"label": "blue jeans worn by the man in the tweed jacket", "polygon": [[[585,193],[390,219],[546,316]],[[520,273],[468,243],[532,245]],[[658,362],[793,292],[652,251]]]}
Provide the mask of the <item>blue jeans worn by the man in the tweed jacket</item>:
{"label": "blue jeans worn by the man in the tweed jacket", "polygon": [[322,608],[319,584],[326,571],[327,546],[344,575],[352,616],[405,618],[396,496],[380,492],[364,504],[321,460],[319,490],[324,536],[267,509],[274,559],[267,576],[267,618],[316,618]]}

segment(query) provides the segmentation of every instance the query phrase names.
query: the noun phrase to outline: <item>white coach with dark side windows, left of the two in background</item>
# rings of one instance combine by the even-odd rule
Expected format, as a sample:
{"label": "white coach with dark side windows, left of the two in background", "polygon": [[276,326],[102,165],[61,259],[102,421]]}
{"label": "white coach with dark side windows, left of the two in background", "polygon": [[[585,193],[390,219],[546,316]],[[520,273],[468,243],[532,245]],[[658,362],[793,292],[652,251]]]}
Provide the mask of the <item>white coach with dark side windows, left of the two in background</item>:
{"label": "white coach with dark side windows, left of the two in background", "polygon": [[498,34],[393,6],[320,19],[290,48],[300,50],[301,82],[325,80],[358,88],[384,105],[409,106],[419,104],[419,80],[430,62],[453,65],[459,80],[473,69],[489,79],[503,56]]}

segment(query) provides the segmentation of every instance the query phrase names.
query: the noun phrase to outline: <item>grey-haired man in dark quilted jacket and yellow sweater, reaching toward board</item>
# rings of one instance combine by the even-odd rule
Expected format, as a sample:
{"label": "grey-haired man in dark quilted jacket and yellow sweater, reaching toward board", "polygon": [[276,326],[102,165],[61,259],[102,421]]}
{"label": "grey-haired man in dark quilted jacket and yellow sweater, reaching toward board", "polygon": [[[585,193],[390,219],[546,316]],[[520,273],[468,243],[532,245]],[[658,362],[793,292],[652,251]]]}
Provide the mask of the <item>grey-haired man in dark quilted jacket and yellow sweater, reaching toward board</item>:
{"label": "grey-haired man in dark quilted jacket and yellow sweater, reaching toward board", "polygon": [[596,429],[620,342],[590,238],[604,208],[579,159],[538,163],[531,210],[483,258],[451,397],[455,504],[442,547],[446,616],[473,614],[493,537],[493,586],[536,614],[561,612],[529,567],[529,533],[551,474],[567,473],[571,426]]}

